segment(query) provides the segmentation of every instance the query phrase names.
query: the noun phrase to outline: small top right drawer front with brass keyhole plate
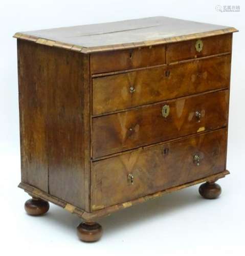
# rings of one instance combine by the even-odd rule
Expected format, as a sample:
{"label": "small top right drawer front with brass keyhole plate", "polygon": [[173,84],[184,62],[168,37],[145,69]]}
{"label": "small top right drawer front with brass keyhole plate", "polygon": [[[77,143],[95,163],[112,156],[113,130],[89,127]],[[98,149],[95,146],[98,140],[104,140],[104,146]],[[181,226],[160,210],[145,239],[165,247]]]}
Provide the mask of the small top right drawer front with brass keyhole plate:
{"label": "small top right drawer front with brass keyhole plate", "polygon": [[231,51],[232,34],[174,42],[166,47],[167,63]]}

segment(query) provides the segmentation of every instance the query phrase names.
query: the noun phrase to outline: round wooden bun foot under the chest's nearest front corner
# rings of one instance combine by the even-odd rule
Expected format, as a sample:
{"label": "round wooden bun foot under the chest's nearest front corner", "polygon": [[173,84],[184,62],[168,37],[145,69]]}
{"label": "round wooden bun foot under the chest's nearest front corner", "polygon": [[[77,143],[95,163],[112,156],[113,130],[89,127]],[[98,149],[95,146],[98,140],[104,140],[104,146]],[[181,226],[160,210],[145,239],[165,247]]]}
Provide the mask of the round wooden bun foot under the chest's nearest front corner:
{"label": "round wooden bun foot under the chest's nearest front corner", "polygon": [[77,227],[77,235],[83,242],[96,242],[102,236],[102,227],[96,222],[82,222]]}

